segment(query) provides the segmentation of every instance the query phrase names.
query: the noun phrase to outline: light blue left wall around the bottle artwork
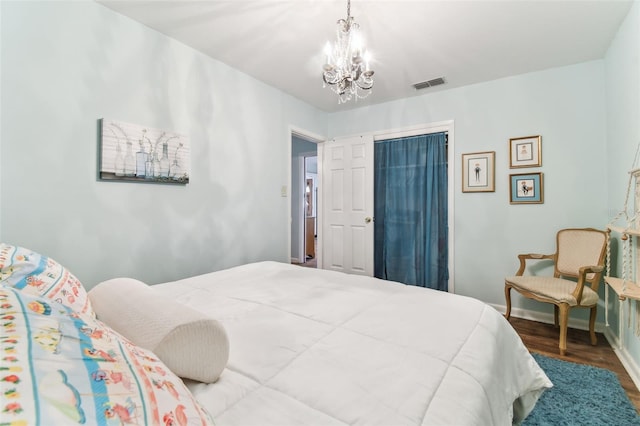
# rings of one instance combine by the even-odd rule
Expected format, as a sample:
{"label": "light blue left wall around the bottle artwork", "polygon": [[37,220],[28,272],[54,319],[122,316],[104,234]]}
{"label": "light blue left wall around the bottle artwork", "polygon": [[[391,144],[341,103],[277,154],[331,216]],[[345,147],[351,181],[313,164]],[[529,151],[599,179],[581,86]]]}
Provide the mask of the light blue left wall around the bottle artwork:
{"label": "light blue left wall around the bottle artwork", "polygon": [[[95,2],[0,2],[0,239],[87,287],[288,261],[291,126],[326,114]],[[191,183],[98,181],[98,119],[190,137]]]}

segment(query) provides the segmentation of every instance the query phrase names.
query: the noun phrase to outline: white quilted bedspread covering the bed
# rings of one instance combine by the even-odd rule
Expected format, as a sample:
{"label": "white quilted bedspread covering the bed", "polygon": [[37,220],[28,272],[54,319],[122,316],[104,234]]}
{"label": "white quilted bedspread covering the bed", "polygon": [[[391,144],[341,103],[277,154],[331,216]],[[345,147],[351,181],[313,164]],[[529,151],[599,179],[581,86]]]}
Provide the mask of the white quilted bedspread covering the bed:
{"label": "white quilted bedspread covering the bed", "polygon": [[154,286],[221,321],[218,425],[508,425],[551,382],[472,298],[276,262]]}

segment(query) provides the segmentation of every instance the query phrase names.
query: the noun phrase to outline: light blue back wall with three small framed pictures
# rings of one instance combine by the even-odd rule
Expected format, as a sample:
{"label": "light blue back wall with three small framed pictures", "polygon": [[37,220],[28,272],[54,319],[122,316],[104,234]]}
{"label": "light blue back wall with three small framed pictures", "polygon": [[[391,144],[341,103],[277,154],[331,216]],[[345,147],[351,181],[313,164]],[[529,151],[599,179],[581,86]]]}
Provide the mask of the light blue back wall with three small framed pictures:
{"label": "light blue back wall with three small framed pictures", "polygon": [[[504,305],[517,253],[552,253],[555,233],[607,223],[603,61],[425,94],[329,117],[329,137],[455,121],[456,293]],[[542,167],[510,169],[509,138],[542,136]],[[462,193],[461,154],[496,152],[496,191]],[[509,175],[544,173],[544,204],[510,205]],[[548,306],[516,297],[514,308]]]}

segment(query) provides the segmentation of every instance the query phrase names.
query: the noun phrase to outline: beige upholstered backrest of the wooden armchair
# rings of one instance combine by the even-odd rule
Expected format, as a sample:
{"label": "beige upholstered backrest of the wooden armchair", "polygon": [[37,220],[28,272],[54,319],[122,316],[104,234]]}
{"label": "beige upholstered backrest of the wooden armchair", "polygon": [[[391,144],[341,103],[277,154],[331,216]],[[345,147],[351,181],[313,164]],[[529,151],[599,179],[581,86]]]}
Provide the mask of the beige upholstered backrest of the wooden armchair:
{"label": "beige upholstered backrest of the wooden armchair", "polygon": [[[561,229],[556,237],[555,275],[577,278],[582,266],[603,266],[607,233],[594,228]],[[593,281],[601,274],[589,274]],[[596,283],[597,285],[597,283]]]}

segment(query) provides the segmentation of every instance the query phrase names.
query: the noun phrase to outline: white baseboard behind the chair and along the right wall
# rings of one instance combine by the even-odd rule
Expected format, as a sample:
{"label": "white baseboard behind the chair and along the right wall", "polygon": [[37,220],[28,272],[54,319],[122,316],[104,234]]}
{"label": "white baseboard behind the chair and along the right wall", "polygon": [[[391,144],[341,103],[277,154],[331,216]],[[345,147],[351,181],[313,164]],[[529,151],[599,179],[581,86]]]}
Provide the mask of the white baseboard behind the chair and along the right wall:
{"label": "white baseboard behind the chair and along the right wall", "polygon": [[[505,313],[507,311],[506,306],[504,305],[493,305],[491,304],[498,312]],[[527,309],[511,309],[511,316],[516,318],[527,319],[531,321],[538,321],[545,324],[553,324],[554,318],[553,314],[546,314],[543,312],[530,311]],[[573,319],[569,318],[569,327],[577,328],[578,330],[589,330],[589,321]],[[633,383],[636,385],[636,388],[640,390],[640,367],[633,359],[631,354],[627,351],[627,348],[620,347],[620,341],[618,337],[613,334],[610,327],[607,327],[603,323],[596,323],[596,331],[598,333],[604,334],[604,337],[607,339],[611,347],[613,348],[613,352],[616,354],[622,366],[633,380]]]}

